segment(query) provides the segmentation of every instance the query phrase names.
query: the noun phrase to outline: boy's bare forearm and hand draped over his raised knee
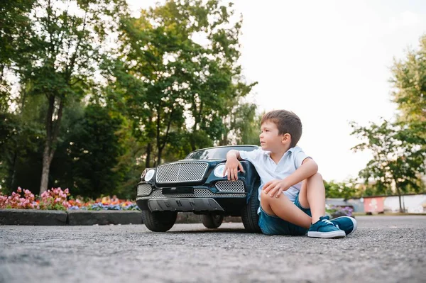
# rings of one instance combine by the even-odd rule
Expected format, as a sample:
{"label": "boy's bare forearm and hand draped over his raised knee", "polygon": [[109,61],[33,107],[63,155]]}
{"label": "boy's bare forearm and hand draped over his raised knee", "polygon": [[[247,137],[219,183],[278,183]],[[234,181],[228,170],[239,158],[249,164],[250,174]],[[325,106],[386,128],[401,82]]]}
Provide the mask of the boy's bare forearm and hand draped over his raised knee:
{"label": "boy's bare forearm and hand draped over his raised knee", "polygon": [[269,194],[269,196],[280,197],[283,191],[287,191],[291,186],[302,182],[304,179],[311,177],[317,172],[317,162],[311,158],[305,158],[305,160],[302,162],[302,165],[297,168],[293,174],[290,174],[290,176],[286,177],[285,179],[277,179],[267,182],[265,186],[263,186],[263,192],[265,194]]}

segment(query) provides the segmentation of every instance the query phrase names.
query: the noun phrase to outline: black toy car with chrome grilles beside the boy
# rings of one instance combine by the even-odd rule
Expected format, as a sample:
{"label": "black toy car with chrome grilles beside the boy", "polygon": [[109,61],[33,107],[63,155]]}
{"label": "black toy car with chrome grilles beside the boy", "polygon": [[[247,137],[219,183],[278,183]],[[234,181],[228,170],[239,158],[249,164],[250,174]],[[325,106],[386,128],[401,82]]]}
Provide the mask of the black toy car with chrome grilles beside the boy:
{"label": "black toy car with chrome grilles beside the boy", "polygon": [[180,211],[202,214],[207,228],[217,228],[224,216],[241,216],[246,230],[260,232],[257,209],[260,178],[248,161],[238,180],[222,177],[229,150],[256,150],[256,145],[220,146],[191,152],[184,160],[147,168],[138,183],[136,203],[143,223],[155,232],[173,227]]}

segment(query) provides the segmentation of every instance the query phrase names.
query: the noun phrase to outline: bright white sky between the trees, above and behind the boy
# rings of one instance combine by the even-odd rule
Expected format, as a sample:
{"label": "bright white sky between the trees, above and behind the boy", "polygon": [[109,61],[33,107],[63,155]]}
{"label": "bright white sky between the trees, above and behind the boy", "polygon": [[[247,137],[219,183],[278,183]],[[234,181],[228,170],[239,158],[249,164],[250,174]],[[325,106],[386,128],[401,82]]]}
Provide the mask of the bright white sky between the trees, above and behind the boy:
{"label": "bright white sky between the trees, above and behind the boy", "polygon": [[[127,0],[138,16],[155,0]],[[159,1],[164,3],[164,1]],[[259,111],[286,109],[303,125],[298,145],[325,180],[356,177],[371,152],[350,121],[391,119],[391,67],[426,33],[426,3],[383,1],[234,1],[243,16],[240,64]]]}

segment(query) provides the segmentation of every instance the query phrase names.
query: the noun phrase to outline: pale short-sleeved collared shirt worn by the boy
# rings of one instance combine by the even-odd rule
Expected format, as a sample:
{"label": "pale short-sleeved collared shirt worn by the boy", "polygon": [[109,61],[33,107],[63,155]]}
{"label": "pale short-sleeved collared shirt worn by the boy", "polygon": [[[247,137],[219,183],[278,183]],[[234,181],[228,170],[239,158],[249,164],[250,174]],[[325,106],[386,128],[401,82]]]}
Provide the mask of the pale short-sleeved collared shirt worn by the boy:
{"label": "pale short-sleeved collared shirt worn by the boy", "polygon": [[[302,165],[303,160],[310,158],[303,152],[302,148],[295,146],[287,150],[281,160],[276,164],[271,158],[271,152],[258,148],[253,151],[239,151],[241,159],[247,160],[253,164],[261,177],[261,187],[258,188],[259,201],[261,199],[261,191],[263,185],[274,179],[284,179],[290,176],[297,168]],[[283,194],[290,199],[295,201],[297,194],[299,194],[302,188],[302,182],[291,186]],[[260,212],[260,208],[258,213]]]}

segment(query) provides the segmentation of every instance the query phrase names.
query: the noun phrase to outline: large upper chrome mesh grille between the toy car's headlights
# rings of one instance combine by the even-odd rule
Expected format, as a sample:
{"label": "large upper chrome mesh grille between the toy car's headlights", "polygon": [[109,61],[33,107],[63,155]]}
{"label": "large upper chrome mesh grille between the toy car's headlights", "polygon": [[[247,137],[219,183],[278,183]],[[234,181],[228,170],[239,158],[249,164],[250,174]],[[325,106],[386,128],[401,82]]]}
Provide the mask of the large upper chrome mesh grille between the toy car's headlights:
{"label": "large upper chrome mesh grille between the toy car's headlights", "polygon": [[199,182],[206,174],[206,162],[176,162],[157,167],[157,183]]}

